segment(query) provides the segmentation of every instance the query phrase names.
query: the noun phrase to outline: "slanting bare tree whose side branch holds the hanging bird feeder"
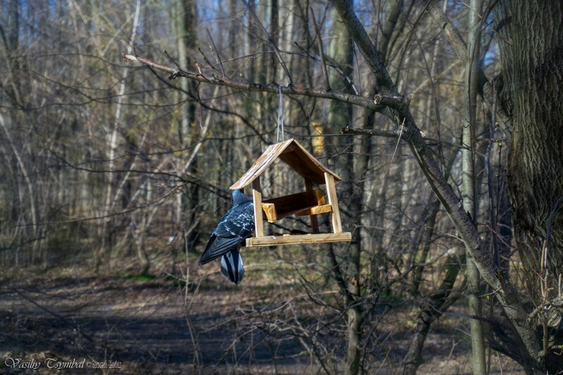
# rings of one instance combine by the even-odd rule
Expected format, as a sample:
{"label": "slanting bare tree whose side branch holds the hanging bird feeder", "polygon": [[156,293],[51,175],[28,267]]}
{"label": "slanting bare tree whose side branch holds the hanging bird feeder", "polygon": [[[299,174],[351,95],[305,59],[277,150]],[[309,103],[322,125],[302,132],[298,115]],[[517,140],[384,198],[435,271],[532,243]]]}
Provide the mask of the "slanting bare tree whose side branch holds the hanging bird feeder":
{"label": "slanting bare tree whose side branch holds the hanging bird feeder", "polygon": [[[464,205],[461,203],[460,198],[457,196],[452,186],[448,184],[445,179],[441,168],[431,152],[429,146],[426,144],[414,117],[412,117],[409,101],[405,96],[401,95],[398,88],[391,76],[386,70],[384,61],[381,59],[381,53],[372,44],[360,20],[355,15],[353,5],[345,1],[331,1],[334,9],[339,13],[343,25],[346,25],[350,37],[354,40],[358,50],[365,58],[365,62],[371,70],[374,80],[377,82],[377,93],[374,96],[374,101],[370,102],[364,96],[355,94],[348,94],[343,91],[310,89],[308,87],[299,87],[296,85],[288,85],[282,87],[281,91],[287,95],[305,95],[315,96],[318,98],[330,98],[336,101],[346,103],[353,103],[364,108],[376,110],[388,117],[391,122],[396,125],[396,129],[385,131],[382,129],[374,129],[373,131],[365,131],[362,129],[344,129],[343,131],[348,134],[369,134],[370,136],[395,136],[400,137],[407,142],[410,146],[412,156],[417,161],[420,170],[424,173],[426,181],[431,186],[431,189],[436,194],[436,197],[441,202],[445,211],[448,212],[451,222],[460,239],[467,249],[467,256],[471,258],[479,270],[479,274],[483,280],[491,286],[495,297],[500,301],[504,309],[508,326],[509,335],[517,337],[517,342],[521,345],[517,346],[518,354],[514,357],[524,366],[526,371],[534,372],[537,369],[552,369],[552,362],[546,361],[545,352],[541,352],[540,342],[536,338],[536,328],[533,324],[528,322],[529,310],[526,305],[521,302],[519,295],[514,288],[514,284],[508,278],[508,275],[498,266],[498,263],[493,260],[493,256],[488,252],[484,241],[479,236],[479,233],[474,224],[474,217],[471,212],[468,212]],[[488,7],[488,11],[491,7]],[[555,12],[557,14],[557,12]],[[484,16],[480,18],[481,22]],[[449,24],[447,23],[446,26]],[[476,25],[476,22],[473,23]],[[476,30],[476,29],[474,29]],[[477,34],[478,36],[478,34]],[[550,41],[552,42],[552,41]],[[460,49],[463,46],[457,46]],[[467,49],[466,49],[467,51]],[[469,47],[469,51],[478,51]],[[467,52],[466,52],[467,53]],[[466,55],[469,56],[469,55]],[[189,72],[186,70],[177,70],[165,65],[160,65],[148,61],[146,58],[140,56],[126,56],[126,59],[131,61],[139,61],[152,68],[157,68],[165,72],[169,72],[172,78],[187,77],[191,80],[198,82],[209,82],[211,84],[218,84],[234,89],[243,89],[248,91],[265,91],[274,93],[277,91],[277,85],[272,84],[248,84],[246,82],[238,82],[228,77],[217,77],[213,75],[206,75],[201,72]],[[471,59],[465,58],[465,61]],[[477,60],[478,61],[478,60]],[[475,65],[472,68],[476,70]],[[474,78],[470,82],[474,82]],[[486,95],[483,90],[483,94]],[[471,112],[471,111],[469,111]],[[472,137],[474,135],[469,134]],[[474,142],[474,139],[470,141]],[[553,217],[551,215],[551,217]],[[547,234],[547,233],[546,233]],[[504,338],[498,337],[500,341]],[[508,340],[508,339],[506,339]],[[510,339],[510,342],[512,339]],[[508,341],[503,341],[508,345]],[[547,348],[547,347],[546,347]],[[543,354],[542,354],[543,353]],[[481,366],[481,364],[479,364]],[[482,367],[481,367],[482,369]],[[358,371],[356,369],[356,371]]]}

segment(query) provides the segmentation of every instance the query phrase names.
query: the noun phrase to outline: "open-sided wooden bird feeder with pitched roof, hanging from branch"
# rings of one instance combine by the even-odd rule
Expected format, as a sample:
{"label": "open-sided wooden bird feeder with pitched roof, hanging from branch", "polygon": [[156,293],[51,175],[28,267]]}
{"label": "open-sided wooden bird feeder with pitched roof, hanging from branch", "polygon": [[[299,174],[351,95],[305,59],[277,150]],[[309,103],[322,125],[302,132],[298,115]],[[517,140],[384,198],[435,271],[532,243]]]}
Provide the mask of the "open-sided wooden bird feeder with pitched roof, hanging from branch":
{"label": "open-sided wooden bird feeder with pitched roof, hanging from branch", "polygon": [[[305,191],[280,196],[262,201],[260,175],[267,170],[277,158],[283,160],[295,172],[305,179]],[[254,237],[246,239],[246,246],[277,246],[296,243],[324,243],[350,241],[352,234],[342,231],[338,200],[336,198],[336,182],[341,178],[324,167],[319,160],[308,153],[295,139],[288,139],[279,144],[269,146],[255,161],[252,167],[231,186],[231,190],[243,189],[252,184],[254,201]],[[313,189],[314,185],[327,185],[327,200],[321,189]],[[322,213],[331,214],[332,233],[320,233],[317,216]],[[311,234],[284,234],[282,236],[264,236],[263,220],[277,222],[291,215],[309,216]]]}

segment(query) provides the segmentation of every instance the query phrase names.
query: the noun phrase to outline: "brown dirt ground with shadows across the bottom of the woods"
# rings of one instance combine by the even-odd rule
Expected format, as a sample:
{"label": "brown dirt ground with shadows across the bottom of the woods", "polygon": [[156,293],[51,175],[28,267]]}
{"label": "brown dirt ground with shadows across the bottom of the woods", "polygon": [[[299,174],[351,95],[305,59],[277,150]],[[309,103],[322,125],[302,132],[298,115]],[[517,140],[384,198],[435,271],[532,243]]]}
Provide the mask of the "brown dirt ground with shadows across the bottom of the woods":
{"label": "brown dirt ground with shadows across the bottom of the woods", "polygon": [[[260,326],[266,311],[281,311],[288,301],[294,306],[283,314],[291,320],[288,311],[295,312],[299,318],[294,322],[323,314],[322,308],[299,298],[291,287],[265,285],[256,274],[247,271],[248,279],[234,286],[222,279],[218,267],[191,269],[196,283],[186,289],[170,275],[135,276],[126,269],[104,275],[77,265],[8,270],[0,281],[0,372],[323,374],[303,336],[289,328],[280,335],[264,329],[267,324]],[[386,314],[372,332],[377,345],[365,367],[369,374],[400,373],[413,308],[405,305]],[[274,323],[281,324],[278,333],[284,332],[284,320]],[[433,326],[419,374],[472,374],[467,324],[460,324],[459,317],[444,317]],[[326,340],[324,348],[345,352],[336,348],[343,345],[341,332]],[[333,367],[336,373],[341,360],[335,359],[340,363]],[[72,363],[75,367],[68,368]],[[37,364],[37,371],[23,368]],[[56,371],[57,366],[66,368]],[[495,353],[491,373],[523,374]]]}

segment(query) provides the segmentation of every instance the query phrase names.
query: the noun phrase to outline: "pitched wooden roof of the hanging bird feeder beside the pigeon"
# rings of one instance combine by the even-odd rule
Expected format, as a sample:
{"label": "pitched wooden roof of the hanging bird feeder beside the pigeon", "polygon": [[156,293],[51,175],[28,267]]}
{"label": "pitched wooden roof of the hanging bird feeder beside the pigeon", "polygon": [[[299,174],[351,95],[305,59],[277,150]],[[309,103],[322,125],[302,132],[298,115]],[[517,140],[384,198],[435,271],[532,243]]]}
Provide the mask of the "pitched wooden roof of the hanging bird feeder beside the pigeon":
{"label": "pitched wooden roof of the hanging bird feeder beside the pigeon", "polygon": [[243,174],[243,177],[235,182],[230,189],[243,189],[243,187],[248,186],[248,184],[251,184],[260,174],[264,173],[267,167],[270,167],[277,158],[284,160],[293,170],[301,174],[301,176],[310,179],[313,184],[320,185],[325,183],[324,172],[332,174],[336,181],[342,180],[339,176],[334,174],[334,172],[324,167],[319,160],[305,150],[298,141],[292,138],[279,144],[268,146],[260,158],[255,161],[252,167],[250,167],[250,169]]}

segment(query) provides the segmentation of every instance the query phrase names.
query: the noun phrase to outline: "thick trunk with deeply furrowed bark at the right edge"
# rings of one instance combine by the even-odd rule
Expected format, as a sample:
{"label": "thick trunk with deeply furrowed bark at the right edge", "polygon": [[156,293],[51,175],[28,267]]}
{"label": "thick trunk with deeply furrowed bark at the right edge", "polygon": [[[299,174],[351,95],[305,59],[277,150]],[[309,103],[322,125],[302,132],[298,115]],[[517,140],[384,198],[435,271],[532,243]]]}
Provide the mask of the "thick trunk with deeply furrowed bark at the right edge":
{"label": "thick trunk with deeply furrowed bark at the right edge", "polygon": [[[513,108],[507,186],[514,237],[527,291],[538,306],[553,297],[549,291],[542,295],[538,276],[554,287],[563,272],[563,4],[505,0],[495,17],[497,27],[505,28],[500,38],[503,94]],[[563,325],[550,329],[560,337]],[[555,348],[548,351],[547,369],[562,371],[561,350],[559,355]]]}

